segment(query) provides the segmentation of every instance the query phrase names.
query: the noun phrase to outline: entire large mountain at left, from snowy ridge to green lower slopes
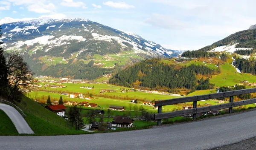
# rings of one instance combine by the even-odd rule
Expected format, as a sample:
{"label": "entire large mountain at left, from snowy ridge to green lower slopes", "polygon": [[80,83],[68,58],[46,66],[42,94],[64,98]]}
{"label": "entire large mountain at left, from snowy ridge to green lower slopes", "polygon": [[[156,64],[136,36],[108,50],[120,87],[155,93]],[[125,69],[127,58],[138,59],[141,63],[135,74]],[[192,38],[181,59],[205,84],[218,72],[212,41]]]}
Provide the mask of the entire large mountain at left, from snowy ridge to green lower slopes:
{"label": "entire large mountain at left, from snowy ridge to green lower slopes", "polygon": [[[132,32],[81,18],[20,20],[6,17],[0,20],[0,25],[3,33],[0,40],[4,42],[5,51],[23,54],[36,75],[95,79],[112,72],[116,65],[130,65],[146,58],[176,57],[183,53],[163,48]],[[82,65],[90,61],[93,61],[93,66],[90,65],[93,73],[85,71]],[[63,69],[74,64],[73,68],[80,70]],[[94,74],[95,69],[101,70],[96,76],[83,75]]]}

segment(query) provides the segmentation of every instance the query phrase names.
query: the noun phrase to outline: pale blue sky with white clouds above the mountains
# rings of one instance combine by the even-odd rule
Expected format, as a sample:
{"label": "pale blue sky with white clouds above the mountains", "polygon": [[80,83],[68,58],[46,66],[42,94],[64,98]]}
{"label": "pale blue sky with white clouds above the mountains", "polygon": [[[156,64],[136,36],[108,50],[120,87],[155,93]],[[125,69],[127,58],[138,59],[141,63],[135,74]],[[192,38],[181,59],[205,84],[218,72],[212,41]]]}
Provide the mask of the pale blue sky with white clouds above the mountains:
{"label": "pale blue sky with white clouds above the mountains", "polygon": [[4,17],[79,17],[174,50],[196,50],[256,24],[255,0],[0,0]]}

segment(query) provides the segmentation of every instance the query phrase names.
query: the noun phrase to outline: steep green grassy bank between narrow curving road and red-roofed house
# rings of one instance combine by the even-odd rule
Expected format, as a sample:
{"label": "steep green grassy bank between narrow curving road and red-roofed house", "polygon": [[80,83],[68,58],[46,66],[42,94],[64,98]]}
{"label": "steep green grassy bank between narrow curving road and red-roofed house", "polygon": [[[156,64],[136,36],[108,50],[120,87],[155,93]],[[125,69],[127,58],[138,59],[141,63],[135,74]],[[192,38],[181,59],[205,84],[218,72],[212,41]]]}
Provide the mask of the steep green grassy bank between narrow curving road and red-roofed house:
{"label": "steep green grassy bank between narrow curving road and red-roofed house", "polygon": [[[26,103],[26,105],[24,105]],[[66,120],[61,116],[52,113],[37,102],[32,101],[26,96],[23,101],[17,103],[18,107],[27,115],[26,121],[35,132],[35,135],[65,135],[81,134],[84,131],[69,129]]]}

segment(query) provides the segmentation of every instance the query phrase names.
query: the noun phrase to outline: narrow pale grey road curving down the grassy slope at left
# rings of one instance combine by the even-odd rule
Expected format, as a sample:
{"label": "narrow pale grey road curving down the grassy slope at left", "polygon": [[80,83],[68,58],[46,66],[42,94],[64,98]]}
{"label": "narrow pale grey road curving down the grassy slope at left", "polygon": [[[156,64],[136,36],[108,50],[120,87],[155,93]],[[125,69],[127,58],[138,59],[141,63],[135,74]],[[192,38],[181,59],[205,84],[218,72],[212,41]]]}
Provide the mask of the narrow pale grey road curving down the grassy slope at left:
{"label": "narrow pale grey road curving down the grassy slope at left", "polygon": [[[3,110],[7,116],[12,120],[13,124],[15,125],[18,133],[27,133],[27,134],[34,134],[33,130],[29,127],[26,120],[21,116],[21,114],[12,106],[1,104],[0,109]],[[1,147],[0,147],[1,150]]]}

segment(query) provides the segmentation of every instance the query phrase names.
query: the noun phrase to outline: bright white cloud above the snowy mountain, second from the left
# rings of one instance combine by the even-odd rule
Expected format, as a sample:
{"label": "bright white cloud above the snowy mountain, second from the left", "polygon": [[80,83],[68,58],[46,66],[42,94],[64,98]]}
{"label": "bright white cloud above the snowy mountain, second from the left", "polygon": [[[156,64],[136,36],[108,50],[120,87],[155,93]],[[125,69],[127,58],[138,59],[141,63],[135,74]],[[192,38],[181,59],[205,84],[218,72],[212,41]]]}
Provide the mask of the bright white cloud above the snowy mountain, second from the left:
{"label": "bright white cloud above the snowy mountain, second from the left", "polygon": [[50,13],[53,10],[55,10],[55,5],[52,3],[49,3],[48,5],[39,5],[39,4],[33,4],[29,5],[28,11],[34,11],[36,13],[42,14],[42,13]]}

